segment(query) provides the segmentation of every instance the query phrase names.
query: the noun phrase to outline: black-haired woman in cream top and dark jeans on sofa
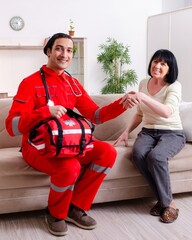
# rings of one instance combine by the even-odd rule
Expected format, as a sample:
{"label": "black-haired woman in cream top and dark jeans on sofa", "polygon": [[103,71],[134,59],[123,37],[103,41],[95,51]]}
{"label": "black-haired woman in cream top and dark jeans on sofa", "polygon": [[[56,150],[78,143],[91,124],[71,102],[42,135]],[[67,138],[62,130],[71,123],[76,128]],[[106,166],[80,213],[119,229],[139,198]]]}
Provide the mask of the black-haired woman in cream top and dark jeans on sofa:
{"label": "black-haired woman in cream top and dark jeans on sofa", "polygon": [[[150,214],[171,223],[177,219],[179,209],[172,197],[168,160],[186,141],[179,116],[181,84],[177,81],[178,66],[173,53],[166,49],[156,51],[148,74],[150,78],[140,82],[139,92],[132,92],[132,98],[139,101],[137,113],[114,145],[124,141],[128,146],[128,134],[143,123],[133,146],[133,162],[157,197]],[[122,101],[128,107],[130,93]]]}

